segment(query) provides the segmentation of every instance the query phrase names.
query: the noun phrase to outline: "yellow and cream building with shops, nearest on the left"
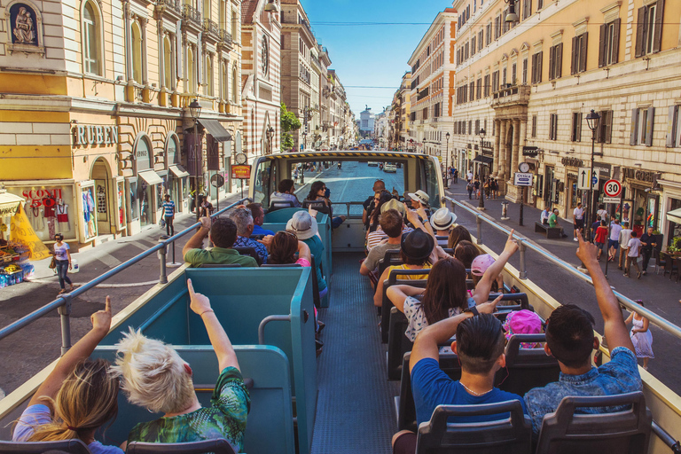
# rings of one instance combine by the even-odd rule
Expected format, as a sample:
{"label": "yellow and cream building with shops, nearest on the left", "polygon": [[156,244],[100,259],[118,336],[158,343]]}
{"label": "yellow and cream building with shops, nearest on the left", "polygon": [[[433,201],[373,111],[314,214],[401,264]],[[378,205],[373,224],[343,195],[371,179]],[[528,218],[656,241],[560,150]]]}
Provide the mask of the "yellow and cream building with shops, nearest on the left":
{"label": "yellow and cream building with shops, nearest on the left", "polygon": [[192,188],[208,193],[210,176],[224,176],[241,136],[240,6],[0,6],[0,184],[27,200],[43,241],[134,234],[160,221],[165,194],[186,212]]}

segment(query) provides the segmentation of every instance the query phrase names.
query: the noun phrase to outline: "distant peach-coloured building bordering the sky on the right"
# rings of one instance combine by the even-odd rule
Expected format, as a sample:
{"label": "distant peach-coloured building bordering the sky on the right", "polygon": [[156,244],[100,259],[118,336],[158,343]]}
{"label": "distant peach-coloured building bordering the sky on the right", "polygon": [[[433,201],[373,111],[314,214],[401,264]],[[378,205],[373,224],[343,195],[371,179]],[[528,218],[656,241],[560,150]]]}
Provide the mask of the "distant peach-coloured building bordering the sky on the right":
{"label": "distant peach-coloured building bordering the sky on the right", "polygon": [[411,67],[410,143],[420,153],[438,156],[446,165],[445,134],[452,129],[451,96],[458,13],[439,12],[408,61]]}

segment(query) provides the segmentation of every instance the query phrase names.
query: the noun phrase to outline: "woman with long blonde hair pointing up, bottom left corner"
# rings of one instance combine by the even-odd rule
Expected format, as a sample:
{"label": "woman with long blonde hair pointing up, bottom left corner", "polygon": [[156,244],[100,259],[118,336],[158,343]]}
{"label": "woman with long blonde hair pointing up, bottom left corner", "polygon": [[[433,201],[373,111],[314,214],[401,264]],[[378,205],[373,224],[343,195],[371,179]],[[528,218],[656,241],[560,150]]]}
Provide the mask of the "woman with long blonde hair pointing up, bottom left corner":
{"label": "woman with long blonde hair pointing up, bottom left corner", "polygon": [[[79,439],[93,454],[122,454],[117,446],[95,440],[95,432],[118,411],[118,379],[103,359],[90,360],[111,327],[111,300],[95,312],[92,329],[70,348],[28,401],[14,427],[14,442]],[[52,412],[53,411],[53,412]]]}

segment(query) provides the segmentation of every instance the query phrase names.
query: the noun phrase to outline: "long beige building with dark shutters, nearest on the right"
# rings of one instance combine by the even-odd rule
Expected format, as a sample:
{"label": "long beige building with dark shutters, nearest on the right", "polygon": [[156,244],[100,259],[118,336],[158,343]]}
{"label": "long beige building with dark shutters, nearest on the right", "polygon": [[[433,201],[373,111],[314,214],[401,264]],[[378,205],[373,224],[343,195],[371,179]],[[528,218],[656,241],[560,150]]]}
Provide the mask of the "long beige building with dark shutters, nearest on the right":
{"label": "long beige building with dark shutters, nearest on the right", "polygon": [[[489,169],[506,198],[518,164],[527,161],[535,185],[525,201],[559,207],[572,219],[579,168],[591,165],[595,130],[599,184],[622,182],[634,228],[681,234],[666,213],[681,207],[681,3],[664,0],[527,0],[519,21],[505,22],[502,0],[458,0],[457,79],[452,120],[459,162]],[[481,141],[479,130],[486,129]],[[464,161],[465,160],[465,161]],[[486,165],[487,164],[487,165]]]}

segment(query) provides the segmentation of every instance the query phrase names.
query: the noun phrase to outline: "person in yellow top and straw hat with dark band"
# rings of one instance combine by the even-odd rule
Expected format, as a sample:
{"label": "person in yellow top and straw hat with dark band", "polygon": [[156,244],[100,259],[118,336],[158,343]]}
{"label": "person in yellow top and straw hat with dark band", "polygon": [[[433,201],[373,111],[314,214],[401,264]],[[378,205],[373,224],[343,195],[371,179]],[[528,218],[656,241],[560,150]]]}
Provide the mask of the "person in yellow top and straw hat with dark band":
{"label": "person in yellow top and straw hat with dark band", "polygon": [[[410,213],[413,213],[410,211]],[[416,217],[416,215],[412,215]],[[416,222],[419,222],[418,218]],[[392,270],[423,270],[431,268],[434,262],[434,248],[435,241],[433,237],[421,230],[422,224],[419,227],[403,235],[402,245],[400,248],[400,257],[403,264],[391,265],[383,271],[379,278],[379,283],[376,285],[376,293],[373,295],[373,305],[381,307],[383,305],[383,281],[390,276]],[[432,257],[433,256],[433,257]],[[412,274],[405,275],[401,279],[427,279],[427,274]]]}

